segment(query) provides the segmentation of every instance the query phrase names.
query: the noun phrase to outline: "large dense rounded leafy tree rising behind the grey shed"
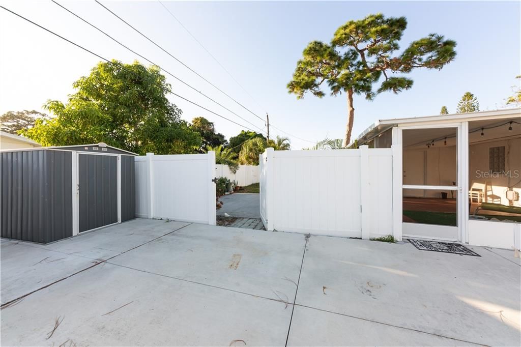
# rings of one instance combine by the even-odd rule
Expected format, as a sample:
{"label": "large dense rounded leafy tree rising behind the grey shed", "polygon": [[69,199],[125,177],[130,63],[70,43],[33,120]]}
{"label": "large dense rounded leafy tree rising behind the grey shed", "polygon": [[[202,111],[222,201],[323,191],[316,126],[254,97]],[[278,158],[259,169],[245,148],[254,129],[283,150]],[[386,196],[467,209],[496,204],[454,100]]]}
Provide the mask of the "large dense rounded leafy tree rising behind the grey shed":
{"label": "large dense rounded leafy tree rising behind the grey shed", "polygon": [[45,105],[56,117],[37,119],[21,133],[42,145],[105,142],[139,154],[194,153],[201,146],[199,134],[168,101],[171,86],[156,66],[98,63],[73,87],[66,104]]}

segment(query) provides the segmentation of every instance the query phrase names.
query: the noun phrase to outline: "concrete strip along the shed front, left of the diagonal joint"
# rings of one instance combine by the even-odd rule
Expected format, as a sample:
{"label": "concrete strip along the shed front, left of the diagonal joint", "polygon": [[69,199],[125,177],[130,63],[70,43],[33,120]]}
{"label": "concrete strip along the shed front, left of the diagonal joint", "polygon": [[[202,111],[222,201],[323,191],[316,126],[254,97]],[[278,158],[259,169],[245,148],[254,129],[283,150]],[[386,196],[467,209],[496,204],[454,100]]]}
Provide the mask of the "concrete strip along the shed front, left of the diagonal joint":
{"label": "concrete strip along the shed front, left of the diagonal joint", "polygon": [[188,224],[135,219],[46,245],[3,239],[2,304]]}

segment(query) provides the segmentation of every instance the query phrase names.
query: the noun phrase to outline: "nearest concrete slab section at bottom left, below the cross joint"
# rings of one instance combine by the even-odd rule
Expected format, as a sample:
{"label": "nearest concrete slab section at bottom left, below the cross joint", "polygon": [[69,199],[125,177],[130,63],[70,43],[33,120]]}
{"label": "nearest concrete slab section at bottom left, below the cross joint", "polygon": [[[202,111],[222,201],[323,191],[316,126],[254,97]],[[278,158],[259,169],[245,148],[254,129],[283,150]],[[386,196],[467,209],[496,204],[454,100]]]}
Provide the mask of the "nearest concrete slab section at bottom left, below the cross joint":
{"label": "nearest concrete slab section at bottom left, below the cross joint", "polygon": [[105,264],[3,309],[2,344],[274,346],[290,316],[277,301]]}

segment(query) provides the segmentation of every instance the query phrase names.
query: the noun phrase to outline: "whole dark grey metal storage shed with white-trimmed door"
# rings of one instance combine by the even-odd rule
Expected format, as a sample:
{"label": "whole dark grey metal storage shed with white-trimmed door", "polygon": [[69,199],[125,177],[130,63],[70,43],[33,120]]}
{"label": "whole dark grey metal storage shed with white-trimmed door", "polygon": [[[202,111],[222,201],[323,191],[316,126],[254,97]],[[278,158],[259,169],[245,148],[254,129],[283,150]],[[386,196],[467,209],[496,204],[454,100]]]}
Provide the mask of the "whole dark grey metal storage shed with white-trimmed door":
{"label": "whole dark grey metal storage shed with white-trimmed door", "polygon": [[135,218],[134,156],[104,143],[0,152],[0,234],[49,243]]}

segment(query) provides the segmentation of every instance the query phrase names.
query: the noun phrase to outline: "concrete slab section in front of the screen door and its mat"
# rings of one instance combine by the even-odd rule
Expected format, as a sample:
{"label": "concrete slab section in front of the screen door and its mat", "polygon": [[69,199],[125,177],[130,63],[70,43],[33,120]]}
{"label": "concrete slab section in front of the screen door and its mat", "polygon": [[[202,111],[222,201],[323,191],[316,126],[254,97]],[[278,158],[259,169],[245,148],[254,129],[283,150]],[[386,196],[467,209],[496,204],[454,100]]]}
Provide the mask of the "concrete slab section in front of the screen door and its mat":
{"label": "concrete slab section in front of the screen door and its mat", "polygon": [[468,342],[519,345],[519,266],[470,248],[481,257],[312,236],[296,303]]}

